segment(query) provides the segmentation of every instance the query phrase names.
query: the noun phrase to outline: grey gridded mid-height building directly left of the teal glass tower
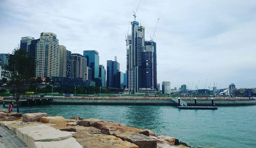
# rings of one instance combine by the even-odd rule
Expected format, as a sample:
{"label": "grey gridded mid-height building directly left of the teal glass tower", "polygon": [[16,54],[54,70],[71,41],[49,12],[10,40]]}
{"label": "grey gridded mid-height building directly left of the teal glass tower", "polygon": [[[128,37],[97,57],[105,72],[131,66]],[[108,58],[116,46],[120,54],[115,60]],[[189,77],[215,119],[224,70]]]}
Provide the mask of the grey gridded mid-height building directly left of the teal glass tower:
{"label": "grey gridded mid-height building directly left of the teal glass tower", "polygon": [[71,54],[71,78],[88,80],[87,59],[80,54]]}

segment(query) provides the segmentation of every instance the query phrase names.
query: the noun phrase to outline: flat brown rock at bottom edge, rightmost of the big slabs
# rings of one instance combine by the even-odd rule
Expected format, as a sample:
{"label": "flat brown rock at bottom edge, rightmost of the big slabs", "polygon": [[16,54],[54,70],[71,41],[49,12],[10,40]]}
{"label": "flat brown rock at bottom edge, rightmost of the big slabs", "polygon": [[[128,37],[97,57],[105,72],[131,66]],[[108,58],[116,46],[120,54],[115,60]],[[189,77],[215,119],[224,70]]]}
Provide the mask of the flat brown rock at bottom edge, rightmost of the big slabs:
{"label": "flat brown rock at bottom edge, rightmost of the big slabs", "polygon": [[140,148],[156,148],[157,141],[143,134],[117,130],[112,131],[112,135],[121,138],[122,140],[129,141],[138,145]]}

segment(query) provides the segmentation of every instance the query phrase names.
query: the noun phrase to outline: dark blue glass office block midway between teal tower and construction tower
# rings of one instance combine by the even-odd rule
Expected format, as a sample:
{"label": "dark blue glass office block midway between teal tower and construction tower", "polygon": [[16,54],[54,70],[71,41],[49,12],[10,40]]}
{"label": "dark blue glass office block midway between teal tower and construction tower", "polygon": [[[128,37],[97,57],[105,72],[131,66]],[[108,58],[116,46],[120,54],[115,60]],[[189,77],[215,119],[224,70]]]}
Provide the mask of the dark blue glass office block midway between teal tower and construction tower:
{"label": "dark blue glass office block midway between teal tower and construction tower", "polygon": [[117,88],[116,74],[120,70],[120,64],[117,61],[106,61],[106,86],[110,88]]}

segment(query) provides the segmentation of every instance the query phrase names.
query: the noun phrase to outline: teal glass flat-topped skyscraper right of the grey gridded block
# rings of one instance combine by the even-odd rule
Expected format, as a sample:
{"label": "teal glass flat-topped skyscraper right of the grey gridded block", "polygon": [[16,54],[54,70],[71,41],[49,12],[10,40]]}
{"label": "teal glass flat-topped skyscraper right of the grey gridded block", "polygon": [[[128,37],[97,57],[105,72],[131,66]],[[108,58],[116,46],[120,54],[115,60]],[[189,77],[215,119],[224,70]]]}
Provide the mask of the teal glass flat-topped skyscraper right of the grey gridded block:
{"label": "teal glass flat-topped skyscraper right of the grey gridded block", "polygon": [[83,51],[83,56],[88,58],[88,66],[92,68],[92,80],[99,78],[99,53],[97,51]]}

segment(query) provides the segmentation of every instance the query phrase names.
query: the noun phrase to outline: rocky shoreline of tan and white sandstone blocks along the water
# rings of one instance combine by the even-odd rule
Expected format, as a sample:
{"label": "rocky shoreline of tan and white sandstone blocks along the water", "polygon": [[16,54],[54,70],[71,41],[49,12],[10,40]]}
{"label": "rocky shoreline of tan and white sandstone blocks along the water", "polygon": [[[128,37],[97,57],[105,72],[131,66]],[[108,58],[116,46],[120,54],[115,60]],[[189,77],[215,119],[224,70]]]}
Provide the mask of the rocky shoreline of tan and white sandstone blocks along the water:
{"label": "rocky shoreline of tan and white sandstone blocks along the water", "polygon": [[156,136],[147,129],[100,119],[49,116],[47,113],[8,113],[0,110],[0,124],[29,147],[190,147],[174,137]]}

